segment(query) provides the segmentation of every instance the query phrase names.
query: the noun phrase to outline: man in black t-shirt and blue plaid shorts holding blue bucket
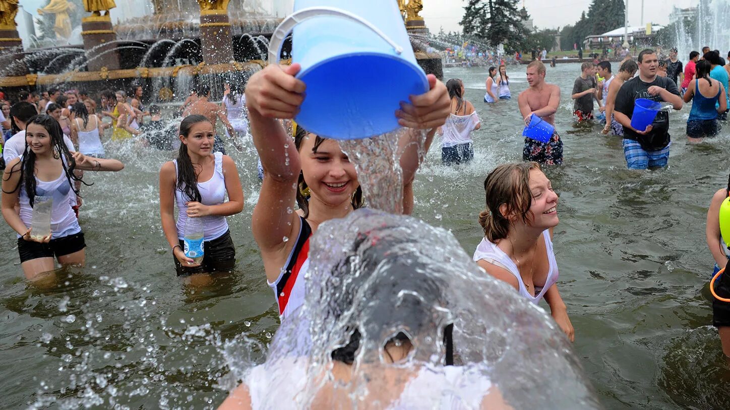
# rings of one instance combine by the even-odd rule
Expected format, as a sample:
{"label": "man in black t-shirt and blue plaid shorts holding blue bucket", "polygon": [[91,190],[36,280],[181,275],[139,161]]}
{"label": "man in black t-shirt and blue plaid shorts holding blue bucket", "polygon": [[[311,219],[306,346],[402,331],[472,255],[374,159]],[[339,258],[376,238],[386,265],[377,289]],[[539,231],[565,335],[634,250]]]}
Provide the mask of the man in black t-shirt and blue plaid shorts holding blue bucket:
{"label": "man in black t-shirt and blue plaid shorts holding blue bucket", "polygon": [[631,126],[637,98],[664,101],[672,104],[674,109],[682,109],[677,83],[669,77],[656,75],[658,62],[654,50],[639,53],[639,76],[624,82],[616,95],[614,118],[623,125],[623,154],[629,169],[666,166],[669,160],[669,112],[658,112],[654,122],[645,130]]}

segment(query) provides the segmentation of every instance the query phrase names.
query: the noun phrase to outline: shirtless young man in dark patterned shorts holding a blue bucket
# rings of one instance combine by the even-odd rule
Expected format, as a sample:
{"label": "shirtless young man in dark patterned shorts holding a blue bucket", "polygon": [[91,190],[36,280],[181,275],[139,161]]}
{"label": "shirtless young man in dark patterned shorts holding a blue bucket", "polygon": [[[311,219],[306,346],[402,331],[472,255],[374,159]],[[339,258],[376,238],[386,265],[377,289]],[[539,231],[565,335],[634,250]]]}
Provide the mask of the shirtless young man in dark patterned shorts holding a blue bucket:
{"label": "shirtless young man in dark patterned shorts holding a blue bucket", "polygon": [[[517,102],[525,124],[530,123],[531,115],[537,115],[542,120],[555,125],[555,112],[560,105],[560,88],[545,82],[545,64],[533,61],[527,65],[527,90],[520,93]],[[539,142],[525,138],[525,147],[522,150],[522,160],[535,161],[546,165],[560,165],[563,163],[563,142],[558,131],[548,142]]]}

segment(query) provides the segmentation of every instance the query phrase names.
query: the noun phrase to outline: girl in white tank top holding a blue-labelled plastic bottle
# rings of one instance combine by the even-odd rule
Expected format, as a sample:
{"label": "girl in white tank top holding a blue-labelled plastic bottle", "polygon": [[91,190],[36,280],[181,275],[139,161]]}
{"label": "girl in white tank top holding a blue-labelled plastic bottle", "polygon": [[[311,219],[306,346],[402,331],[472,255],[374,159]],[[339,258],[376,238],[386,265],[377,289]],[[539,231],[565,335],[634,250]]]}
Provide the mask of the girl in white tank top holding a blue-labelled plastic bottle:
{"label": "girl in white tank top holding a blue-labelled plastic bottle", "polygon": [[[178,276],[231,271],[236,263],[226,217],[243,210],[243,190],[236,163],[228,155],[213,153],[214,142],[215,130],[210,120],[203,115],[188,115],[180,123],[177,158],[164,163],[160,170],[162,229]],[[188,218],[201,218],[203,223],[201,263],[188,258],[183,250]]]}

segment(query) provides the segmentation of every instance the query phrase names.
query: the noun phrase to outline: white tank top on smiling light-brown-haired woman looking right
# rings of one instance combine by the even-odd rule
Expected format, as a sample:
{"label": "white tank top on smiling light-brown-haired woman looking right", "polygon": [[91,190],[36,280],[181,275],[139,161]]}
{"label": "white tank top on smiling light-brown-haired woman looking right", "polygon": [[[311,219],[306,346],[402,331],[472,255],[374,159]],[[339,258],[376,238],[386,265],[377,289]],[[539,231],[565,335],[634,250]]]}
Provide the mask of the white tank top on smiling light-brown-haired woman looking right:
{"label": "white tank top on smiling light-brown-haired woman looking right", "polygon": [[[558,282],[558,263],[555,260],[555,253],[553,253],[553,241],[550,240],[550,231],[547,229],[545,231],[542,231],[542,237],[545,238],[545,250],[548,252],[548,262],[550,263],[550,270],[548,271],[548,277],[545,279],[545,286],[540,289],[539,293],[536,295],[530,295],[530,293],[527,291],[527,288],[525,287],[525,282],[522,280],[522,276],[520,275],[520,270],[517,268],[517,265],[515,265],[514,262],[512,262],[512,259],[507,256],[506,253],[504,253],[496,244],[493,244],[488,239],[484,238],[480,242],[480,244],[477,245],[477,250],[474,252],[474,261],[477,262],[478,260],[486,260],[488,263],[492,263],[493,265],[499,266],[500,268],[504,268],[507,271],[510,272],[510,274],[515,275],[515,278],[517,278],[517,282],[520,284],[519,293],[520,295],[523,295],[525,298],[527,298],[532,303],[539,303],[540,299],[542,299],[543,296],[545,296],[545,292],[548,292],[551,286],[555,285],[556,282]],[[535,287],[535,292],[537,292],[538,287]]]}

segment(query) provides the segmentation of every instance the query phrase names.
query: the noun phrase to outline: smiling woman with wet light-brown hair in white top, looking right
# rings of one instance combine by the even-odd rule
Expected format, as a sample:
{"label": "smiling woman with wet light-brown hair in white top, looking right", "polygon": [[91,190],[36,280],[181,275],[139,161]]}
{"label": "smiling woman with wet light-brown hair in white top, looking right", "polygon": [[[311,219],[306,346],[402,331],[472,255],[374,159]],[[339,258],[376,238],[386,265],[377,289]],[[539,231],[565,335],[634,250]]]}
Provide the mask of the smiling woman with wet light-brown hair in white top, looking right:
{"label": "smiling woman with wet light-brown hair in white top, looking right", "polygon": [[484,238],[475,262],[536,305],[542,298],[570,341],[575,330],[558,292],[553,229],[558,196],[537,163],[507,163],[484,180],[487,209],[479,214]]}

